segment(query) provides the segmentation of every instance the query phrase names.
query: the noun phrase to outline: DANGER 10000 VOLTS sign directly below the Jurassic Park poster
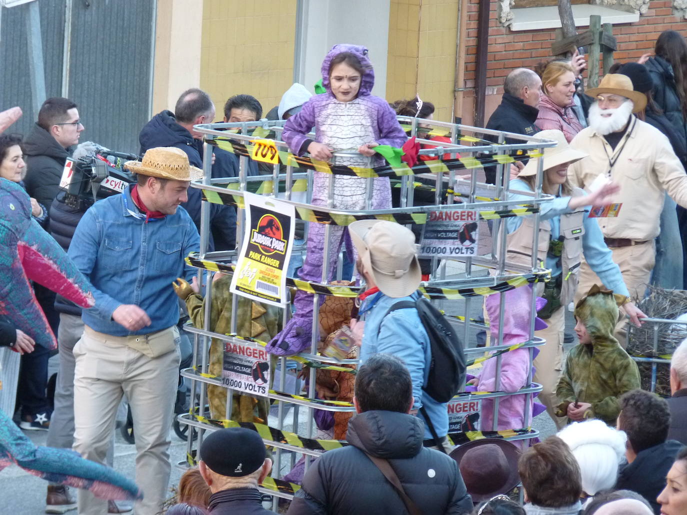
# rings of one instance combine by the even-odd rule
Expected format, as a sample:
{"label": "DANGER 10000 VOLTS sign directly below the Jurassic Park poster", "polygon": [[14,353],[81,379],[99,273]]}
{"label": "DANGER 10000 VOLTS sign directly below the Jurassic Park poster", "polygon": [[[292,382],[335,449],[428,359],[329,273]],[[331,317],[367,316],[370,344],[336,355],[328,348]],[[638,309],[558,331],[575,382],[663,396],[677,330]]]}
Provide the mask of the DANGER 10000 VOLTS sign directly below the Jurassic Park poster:
{"label": "DANGER 10000 VOLTS sign directly below the Jurassic Park poster", "polygon": [[255,395],[267,395],[269,354],[264,349],[225,342],[222,384]]}

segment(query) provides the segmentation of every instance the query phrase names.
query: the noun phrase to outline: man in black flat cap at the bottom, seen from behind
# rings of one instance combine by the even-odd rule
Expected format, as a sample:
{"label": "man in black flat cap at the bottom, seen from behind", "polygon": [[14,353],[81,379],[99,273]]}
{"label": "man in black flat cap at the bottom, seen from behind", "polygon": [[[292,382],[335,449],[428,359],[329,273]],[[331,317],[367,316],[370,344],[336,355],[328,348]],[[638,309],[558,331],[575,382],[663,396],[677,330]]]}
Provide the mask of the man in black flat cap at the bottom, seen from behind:
{"label": "man in black flat cap at the bottom, seen from behind", "polygon": [[274,515],[262,507],[258,485],[272,470],[262,438],[241,427],[220,429],[203,439],[198,469],[210,487],[212,515]]}

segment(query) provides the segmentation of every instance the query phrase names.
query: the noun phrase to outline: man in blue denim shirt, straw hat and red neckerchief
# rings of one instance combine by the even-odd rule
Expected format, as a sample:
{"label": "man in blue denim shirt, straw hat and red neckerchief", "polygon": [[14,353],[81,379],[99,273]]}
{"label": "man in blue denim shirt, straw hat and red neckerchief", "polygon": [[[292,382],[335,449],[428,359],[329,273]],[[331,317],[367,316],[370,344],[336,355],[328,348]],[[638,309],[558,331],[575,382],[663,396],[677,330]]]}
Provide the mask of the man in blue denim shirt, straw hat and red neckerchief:
{"label": "man in blue denim shirt, straw hat and red neckerchief", "polygon": [[[170,424],[179,375],[179,304],[172,282],[190,279],[188,253],[199,236],[188,213],[189,181],[202,176],[178,148],[152,148],[126,168],[138,176],[121,195],[81,218],[69,257],[93,286],[85,332],[74,346],[74,449],[104,463],[117,406],[126,394],[136,435],[137,514],[161,510],[170,477]],[[102,515],[107,501],[79,490],[80,514]]]}

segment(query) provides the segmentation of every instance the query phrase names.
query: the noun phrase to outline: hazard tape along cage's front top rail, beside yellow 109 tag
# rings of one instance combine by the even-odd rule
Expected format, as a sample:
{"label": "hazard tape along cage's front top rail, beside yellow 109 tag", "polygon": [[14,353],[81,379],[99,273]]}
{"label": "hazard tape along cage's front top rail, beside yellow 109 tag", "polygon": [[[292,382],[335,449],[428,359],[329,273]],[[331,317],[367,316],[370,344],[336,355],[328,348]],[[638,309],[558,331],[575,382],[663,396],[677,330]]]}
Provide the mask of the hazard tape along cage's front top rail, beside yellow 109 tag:
{"label": "hazard tape along cage's front top rail, beside yellow 109 tag", "polygon": [[[251,159],[253,148],[252,144],[244,144],[239,141],[229,139],[214,139],[210,143],[218,146],[222,150],[232,152],[238,156],[245,156]],[[357,166],[333,165],[326,161],[317,161],[310,157],[297,156],[285,150],[278,150],[279,161],[282,165],[291,165],[295,168],[305,168],[306,170],[314,170],[316,172],[323,172],[328,174],[357,176],[361,178],[369,177],[392,177],[392,176],[407,176],[414,174],[426,173],[447,173],[451,170],[473,170],[484,168],[484,166],[493,166],[497,164],[515,163],[515,161],[523,161],[532,157],[541,157],[539,152],[527,152],[521,155],[480,155],[480,157],[458,157],[455,159],[433,159],[431,161],[418,161],[412,168],[407,163],[401,163],[399,166],[392,166],[389,164],[377,166],[374,168],[363,168]]]}

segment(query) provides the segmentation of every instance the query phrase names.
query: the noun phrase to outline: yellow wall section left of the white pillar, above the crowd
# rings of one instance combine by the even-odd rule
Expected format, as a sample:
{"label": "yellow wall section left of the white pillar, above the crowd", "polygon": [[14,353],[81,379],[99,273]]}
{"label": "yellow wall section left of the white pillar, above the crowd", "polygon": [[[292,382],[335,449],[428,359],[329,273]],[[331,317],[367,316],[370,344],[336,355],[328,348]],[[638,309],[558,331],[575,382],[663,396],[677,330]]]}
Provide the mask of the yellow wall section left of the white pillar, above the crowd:
{"label": "yellow wall section left of the white pillar, above the crowd", "polygon": [[205,0],[201,89],[221,121],[227,98],[253,95],[263,116],[293,83],[296,0]]}

